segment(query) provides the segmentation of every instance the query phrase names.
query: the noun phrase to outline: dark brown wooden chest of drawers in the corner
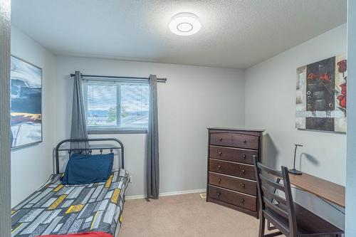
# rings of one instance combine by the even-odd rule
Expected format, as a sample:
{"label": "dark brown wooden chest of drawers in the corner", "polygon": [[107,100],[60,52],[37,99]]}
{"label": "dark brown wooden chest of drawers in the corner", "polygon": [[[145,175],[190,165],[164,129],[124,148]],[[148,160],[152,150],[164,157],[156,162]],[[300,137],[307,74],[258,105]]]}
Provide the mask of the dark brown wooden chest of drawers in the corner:
{"label": "dark brown wooden chest of drawers in the corner", "polygon": [[263,130],[208,128],[206,201],[258,217],[252,156],[262,159]]}

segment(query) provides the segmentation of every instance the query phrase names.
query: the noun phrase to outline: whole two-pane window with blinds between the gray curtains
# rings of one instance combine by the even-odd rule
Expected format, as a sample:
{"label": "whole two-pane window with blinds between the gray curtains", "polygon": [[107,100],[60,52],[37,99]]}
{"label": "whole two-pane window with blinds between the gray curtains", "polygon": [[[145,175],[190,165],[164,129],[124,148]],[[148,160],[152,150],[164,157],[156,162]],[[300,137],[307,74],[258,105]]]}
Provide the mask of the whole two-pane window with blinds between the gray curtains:
{"label": "whole two-pane window with blinds between the gray curtains", "polygon": [[90,132],[146,132],[148,80],[83,80],[85,114]]}

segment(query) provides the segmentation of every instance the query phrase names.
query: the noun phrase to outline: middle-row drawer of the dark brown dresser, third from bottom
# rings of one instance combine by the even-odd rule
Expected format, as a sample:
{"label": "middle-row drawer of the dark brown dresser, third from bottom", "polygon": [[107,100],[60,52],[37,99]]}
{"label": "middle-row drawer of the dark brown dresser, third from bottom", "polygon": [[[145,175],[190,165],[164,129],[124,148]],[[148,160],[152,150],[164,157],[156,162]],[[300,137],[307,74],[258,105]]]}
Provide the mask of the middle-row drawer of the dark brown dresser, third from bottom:
{"label": "middle-row drawer of the dark brown dresser, third from bottom", "polygon": [[209,171],[256,180],[255,168],[246,164],[209,159]]}

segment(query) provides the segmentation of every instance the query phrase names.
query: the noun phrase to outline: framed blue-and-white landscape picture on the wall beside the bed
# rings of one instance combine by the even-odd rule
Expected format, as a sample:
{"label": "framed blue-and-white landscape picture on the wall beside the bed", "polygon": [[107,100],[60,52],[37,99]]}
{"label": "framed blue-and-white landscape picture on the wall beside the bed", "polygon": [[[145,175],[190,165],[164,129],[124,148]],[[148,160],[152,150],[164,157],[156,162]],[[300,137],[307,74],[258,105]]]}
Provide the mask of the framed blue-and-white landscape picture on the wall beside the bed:
{"label": "framed blue-and-white landscape picture on the wall beside the bed", "polygon": [[11,148],[42,142],[42,69],[11,56]]}

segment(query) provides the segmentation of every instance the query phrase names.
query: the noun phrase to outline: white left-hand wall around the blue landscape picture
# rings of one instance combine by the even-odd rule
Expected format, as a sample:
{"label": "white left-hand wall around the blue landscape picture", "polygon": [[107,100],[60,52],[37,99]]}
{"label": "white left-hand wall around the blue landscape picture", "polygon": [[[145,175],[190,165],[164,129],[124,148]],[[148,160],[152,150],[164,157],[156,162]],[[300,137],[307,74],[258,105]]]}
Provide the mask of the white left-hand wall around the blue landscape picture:
{"label": "white left-hand wall around the blue landscape picture", "polygon": [[53,170],[56,58],[15,26],[11,26],[11,54],[43,70],[43,142],[11,152],[11,206],[15,206],[43,185]]}

